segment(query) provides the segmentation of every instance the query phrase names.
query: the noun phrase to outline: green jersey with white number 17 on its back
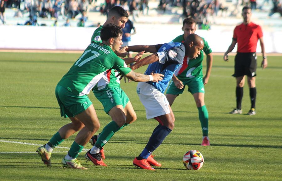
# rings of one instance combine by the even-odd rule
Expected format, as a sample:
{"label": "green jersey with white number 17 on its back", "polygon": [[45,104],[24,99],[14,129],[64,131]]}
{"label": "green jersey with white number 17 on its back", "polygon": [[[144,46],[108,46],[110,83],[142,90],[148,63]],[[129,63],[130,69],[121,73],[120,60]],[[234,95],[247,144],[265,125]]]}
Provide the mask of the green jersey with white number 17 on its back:
{"label": "green jersey with white number 17 on its back", "polygon": [[110,46],[93,42],[62,77],[58,85],[79,96],[89,94],[93,88],[105,88],[110,83],[119,87],[119,83],[115,83],[117,78],[110,77],[112,69],[118,70],[122,75],[131,71]]}

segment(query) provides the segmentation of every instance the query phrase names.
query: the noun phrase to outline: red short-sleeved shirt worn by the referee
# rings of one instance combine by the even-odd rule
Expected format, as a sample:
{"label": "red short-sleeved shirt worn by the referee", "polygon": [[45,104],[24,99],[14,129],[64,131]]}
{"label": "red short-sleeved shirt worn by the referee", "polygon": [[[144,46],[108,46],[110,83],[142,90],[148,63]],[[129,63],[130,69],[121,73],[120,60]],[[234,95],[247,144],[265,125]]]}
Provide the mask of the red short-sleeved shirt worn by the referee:
{"label": "red short-sleeved shirt worn by the referee", "polygon": [[238,25],[234,29],[233,40],[238,43],[237,52],[250,53],[257,51],[259,38],[263,36],[261,27],[252,22]]}

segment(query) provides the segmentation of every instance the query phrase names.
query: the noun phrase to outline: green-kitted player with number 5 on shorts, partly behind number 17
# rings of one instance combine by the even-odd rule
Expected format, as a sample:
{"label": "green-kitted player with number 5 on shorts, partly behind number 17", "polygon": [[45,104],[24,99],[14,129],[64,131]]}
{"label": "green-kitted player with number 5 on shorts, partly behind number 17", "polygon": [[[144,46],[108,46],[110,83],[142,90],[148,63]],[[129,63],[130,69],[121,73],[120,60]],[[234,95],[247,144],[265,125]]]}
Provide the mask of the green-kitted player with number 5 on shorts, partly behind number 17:
{"label": "green-kitted player with number 5 on shorts, partly behind number 17", "polygon": [[[102,42],[100,32],[103,26],[112,23],[118,27],[124,28],[127,20],[128,20],[128,13],[126,10],[124,10],[120,6],[112,7],[109,11],[106,22],[94,31],[91,37],[91,42]],[[125,51],[126,48],[127,46],[124,46],[122,49],[115,51],[115,53],[118,56],[123,57],[127,55],[127,52]],[[136,62],[141,58],[143,53],[144,52],[140,52],[133,58],[124,58],[123,60],[125,61],[126,64]],[[137,117],[135,111],[133,110],[133,106],[129,101],[128,96],[120,88],[120,81],[118,78],[116,78],[117,74],[118,72],[115,72],[115,70],[112,69],[110,72],[108,72],[108,79],[107,80],[105,79],[104,82],[102,81],[99,82],[98,86],[94,88],[92,91],[95,97],[97,97],[97,99],[102,103],[106,114],[110,115],[111,119],[117,122],[117,125],[119,126],[118,130],[120,130],[123,127],[133,123],[137,119]],[[125,114],[126,120],[123,120],[123,116],[120,116],[121,114],[123,114],[123,111],[120,109],[120,107],[123,107],[124,112],[126,113]],[[123,123],[124,121],[125,123]],[[91,160],[95,165],[101,165],[99,164],[101,160],[100,157],[105,159],[103,146],[106,144],[106,142],[104,141],[105,140],[108,141],[109,139],[111,139],[113,134],[117,132],[117,127],[116,127],[117,125],[110,122],[102,130],[102,133],[99,133],[98,135],[93,135],[93,137],[91,137],[89,142],[91,143],[91,145],[94,145],[94,147],[91,149],[91,154],[94,155],[87,157],[86,154],[86,158]],[[120,127],[120,125],[123,126]],[[100,135],[102,135],[102,137],[99,139]]]}

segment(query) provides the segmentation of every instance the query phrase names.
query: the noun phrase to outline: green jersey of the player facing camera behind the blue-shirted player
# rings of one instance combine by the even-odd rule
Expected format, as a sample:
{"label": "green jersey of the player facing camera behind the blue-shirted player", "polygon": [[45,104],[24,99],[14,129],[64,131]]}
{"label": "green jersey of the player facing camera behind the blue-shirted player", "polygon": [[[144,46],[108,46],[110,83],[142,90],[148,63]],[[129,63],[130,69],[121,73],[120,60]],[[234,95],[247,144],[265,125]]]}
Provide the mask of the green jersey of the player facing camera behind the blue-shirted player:
{"label": "green jersey of the player facing camera behind the blue-shirted player", "polygon": [[[204,48],[201,50],[201,53],[195,59],[189,59],[187,56],[184,57],[183,64],[175,71],[175,75],[180,79],[191,79],[194,77],[203,77],[203,66],[202,61],[204,59],[204,53],[206,55],[212,53],[212,50],[206,40],[202,38],[204,41]],[[173,42],[184,42],[183,35],[176,37]]]}

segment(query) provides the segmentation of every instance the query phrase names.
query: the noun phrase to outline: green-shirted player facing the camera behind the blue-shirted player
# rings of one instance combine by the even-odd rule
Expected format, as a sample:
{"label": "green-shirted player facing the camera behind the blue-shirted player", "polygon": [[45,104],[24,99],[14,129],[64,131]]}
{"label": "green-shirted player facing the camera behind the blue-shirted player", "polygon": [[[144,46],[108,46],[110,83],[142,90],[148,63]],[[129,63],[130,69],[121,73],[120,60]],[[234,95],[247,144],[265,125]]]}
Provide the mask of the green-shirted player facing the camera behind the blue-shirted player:
{"label": "green-shirted player facing the camera behind the blue-shirted player", "polygon": [[[193,18],[185,18],[183,20],[183,35],[176,37],[173,42],[184,42],[186,37],[196,31],[196,21]],[[183,64],[175,71],[172,76],[172,81],[166,91],[166,98],[170,103],[173,104],[175,98],[182,94],[185,86],[188,86],[188,91],[194,97],[196,106],[199,112],[199,120],[201,122],[201,128],[203,133],[202,146],[209,146],[210,141],[208,137],[208,111],[206,109],[204,96],[205,88],[204,85],[208,83],[212,69],[212,50],[206,40],[204,41],[204,48],[201,50],[201,54],[195,59],[190,59],[185,56]],[[206,54],[206,75],[203,77],[202,74],[202,61],[204,59],[204,53]]]}

